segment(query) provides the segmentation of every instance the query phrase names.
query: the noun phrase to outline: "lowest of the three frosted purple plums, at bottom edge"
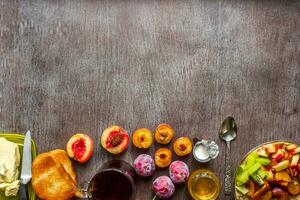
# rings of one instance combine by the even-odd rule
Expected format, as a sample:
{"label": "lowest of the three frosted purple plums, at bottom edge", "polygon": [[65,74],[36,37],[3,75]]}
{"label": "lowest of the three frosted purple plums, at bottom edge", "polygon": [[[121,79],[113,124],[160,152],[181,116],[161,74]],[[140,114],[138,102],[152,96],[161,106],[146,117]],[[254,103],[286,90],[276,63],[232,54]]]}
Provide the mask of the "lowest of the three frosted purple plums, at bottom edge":
{"label": "lowest of the three frosted purple plums, at bottom edge", "polygon": [[154,180],[152,190],[160,199],[168,199],[174,194],[175,186],[169,177],[160,176]]}

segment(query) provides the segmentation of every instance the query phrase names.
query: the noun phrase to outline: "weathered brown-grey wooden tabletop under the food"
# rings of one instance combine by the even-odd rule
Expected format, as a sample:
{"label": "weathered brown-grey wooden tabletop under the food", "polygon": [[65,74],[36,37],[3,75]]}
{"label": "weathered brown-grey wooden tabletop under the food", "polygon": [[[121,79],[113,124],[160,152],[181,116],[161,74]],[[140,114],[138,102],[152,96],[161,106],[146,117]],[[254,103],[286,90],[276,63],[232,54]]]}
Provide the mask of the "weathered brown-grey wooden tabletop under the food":
{"label": "weathered brown-grey wooden tabletop under the food", "polygon": [[[300,143],[299,1],[0,4],[0,128],[32,130],[39,152],[65,148],[77,132],[98,144],[112,124],[132,133],[166,122],[176,137],[219,144],[207,165],[183,160],[223,183],[218,129],[226,116],[239,128],[234,167],[262,142]],[[130,146],[120,157],[132,162],[140,153]],[[112,158],[96,145],[88,163],[74,163],[79,182]],[[138,200],[153,197],[151,182],[138,181]],[[172,199],[189,199],[176,189]]]}

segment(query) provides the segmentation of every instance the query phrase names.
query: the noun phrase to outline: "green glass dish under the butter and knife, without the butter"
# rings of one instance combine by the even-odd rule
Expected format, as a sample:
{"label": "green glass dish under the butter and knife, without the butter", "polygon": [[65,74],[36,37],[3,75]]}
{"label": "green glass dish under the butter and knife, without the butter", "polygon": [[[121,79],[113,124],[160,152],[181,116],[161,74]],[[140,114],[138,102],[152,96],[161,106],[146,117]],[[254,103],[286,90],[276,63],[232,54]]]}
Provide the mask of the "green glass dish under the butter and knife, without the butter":
{"label": "green glass dish under the butter and knife, without the butter", "polygon": [[[23,143],[24,143],[24,135],[22,134],[16,134],[16,133],[0,133],[0,137],[6,138],[8,141],[14,142],[19,146],[19,151],[22,159],[23,155]],[[31,154],[32,159],[36,158],[36,145],[33,140],[31,140]],[[22,163],[22,160],[21,160]],[[22,165],[22,164],[21,164]],[[19,170],[21,172],[21,165],[19,167]],[[31,187],[31,183],[28,184],[28,194],[29,194],[29,200],[35,200],[35,193]],[[18,200],[18,196],[16,197],[5,197],[3,192],[0,192],[0,199],[1,200]]]}

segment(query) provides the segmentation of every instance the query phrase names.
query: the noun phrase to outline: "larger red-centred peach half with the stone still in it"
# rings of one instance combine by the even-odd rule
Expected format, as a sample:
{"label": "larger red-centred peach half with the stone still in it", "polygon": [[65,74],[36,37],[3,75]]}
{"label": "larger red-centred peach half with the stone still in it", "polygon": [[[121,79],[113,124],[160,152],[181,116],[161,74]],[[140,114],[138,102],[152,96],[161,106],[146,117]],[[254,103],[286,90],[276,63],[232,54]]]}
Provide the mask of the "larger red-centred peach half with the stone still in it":
{"label": "larger red-centred peach half with the stone still in it", "polygon": [[129,145],[128,133],[119,126],[106,128],[100,138],[102,147],[112,154],[122,153]]}

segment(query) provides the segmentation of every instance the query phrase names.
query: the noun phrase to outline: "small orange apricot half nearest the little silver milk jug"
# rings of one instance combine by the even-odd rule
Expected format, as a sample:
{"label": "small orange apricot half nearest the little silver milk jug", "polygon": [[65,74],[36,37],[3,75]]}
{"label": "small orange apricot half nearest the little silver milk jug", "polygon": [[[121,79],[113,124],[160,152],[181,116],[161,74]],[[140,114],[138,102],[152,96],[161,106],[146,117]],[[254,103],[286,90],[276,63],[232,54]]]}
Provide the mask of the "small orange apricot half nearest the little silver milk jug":
{"label": "small orange apricot half nearest the little silver milk jug", "polygon": [[180,137],[175,140],[173,150],[177,156],[185,156],[192,152],[193,144],[188,137]]}

